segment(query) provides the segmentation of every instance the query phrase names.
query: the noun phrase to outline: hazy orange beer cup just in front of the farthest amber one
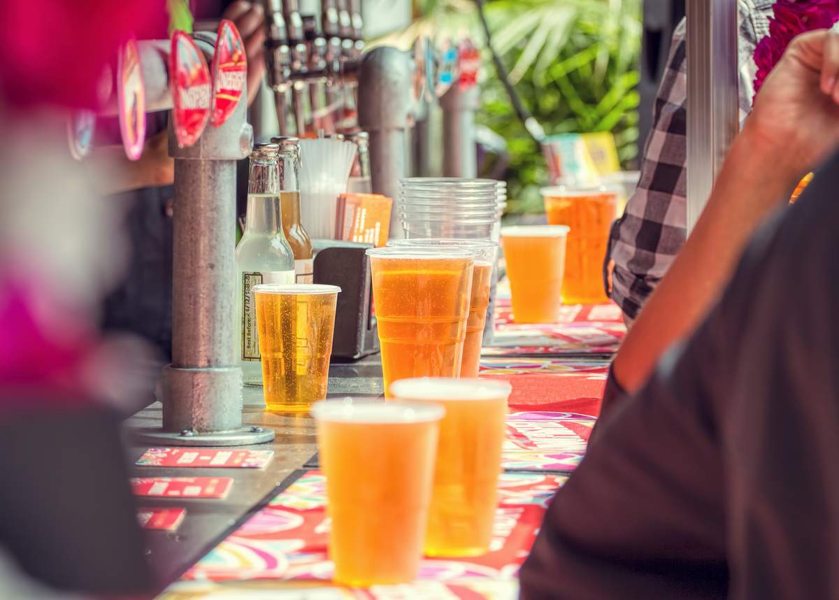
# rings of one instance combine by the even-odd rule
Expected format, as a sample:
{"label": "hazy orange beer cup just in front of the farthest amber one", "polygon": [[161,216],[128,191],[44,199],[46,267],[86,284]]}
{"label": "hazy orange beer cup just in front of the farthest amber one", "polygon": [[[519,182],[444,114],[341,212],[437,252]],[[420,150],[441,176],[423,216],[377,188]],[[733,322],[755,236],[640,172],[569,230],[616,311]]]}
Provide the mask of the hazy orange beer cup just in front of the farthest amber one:
{"label": "hazy orange beer cup just in front of the farthest amber one", "polygon": [[502,227],[501,243],[516,323],[555,323],[562,312],[564,225]]}

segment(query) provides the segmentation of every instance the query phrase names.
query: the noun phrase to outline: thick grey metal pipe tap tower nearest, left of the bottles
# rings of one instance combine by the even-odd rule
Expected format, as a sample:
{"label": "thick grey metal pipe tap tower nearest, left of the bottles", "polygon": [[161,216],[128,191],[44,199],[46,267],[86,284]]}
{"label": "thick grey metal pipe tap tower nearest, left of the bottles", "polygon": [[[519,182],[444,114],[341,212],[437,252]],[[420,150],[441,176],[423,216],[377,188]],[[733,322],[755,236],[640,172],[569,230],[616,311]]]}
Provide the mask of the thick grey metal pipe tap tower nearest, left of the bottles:
{"label": "thick grey metal pipe tap tower nearest, left of the bottles", "polygon": [[[211,56],[214,40],[206,34],[196,41]],[[150,45],[156,51],[143,54],[143,75],[150,89],[165,89],[168,80],[149,78],[165,76],[166,48]],[[164,368],[163,427],[138,430],[143,441],[241,446],[274,438],[273,430],[242,426],[242,372],[234,360],[236,161],[253,148],[246,105],[239,102],[225,123],[206,127],[190,147],[179,147],[169,121],[175,159],[172,363]]]}

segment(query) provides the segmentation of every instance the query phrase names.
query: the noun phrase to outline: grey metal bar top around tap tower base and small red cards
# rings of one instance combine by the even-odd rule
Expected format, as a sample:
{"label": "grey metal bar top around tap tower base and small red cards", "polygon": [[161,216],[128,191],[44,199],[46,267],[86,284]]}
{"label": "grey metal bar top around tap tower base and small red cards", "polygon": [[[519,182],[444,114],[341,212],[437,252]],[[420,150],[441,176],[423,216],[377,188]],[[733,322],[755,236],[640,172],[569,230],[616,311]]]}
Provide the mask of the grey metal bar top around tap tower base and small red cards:
{"label": "grey metal bar top around tap tower base and small red cards", "polygon": [[[333,364],[329,371],[329,398],[345,396],[381,396],[383,394],[382,364],[379,355],[357,363]],[[134,477],[232,477],[233,486],[227,498],[159,499],[139,498],[138,504],[152,508],[181,507],[186,516],[174,532],[148,530],[149,560],[163,587],[215,547],[239,524],[261,508],[279,491],[284,481],[302,469],[317,450],[315,422],[308,414],[279,415],[249,408],[262,395],[262,388],[245,388],[244,422],[246,425],[270,427],[275,431],[272,444],[239,446],[227,450],[274,450],[274,458],[264,469],[251,468],[164,468],[133,467]],[[159,426],[162,407],[154,403],[125,422],[128,458],[136,462],[148,445],[131,439],[134,428]]]}

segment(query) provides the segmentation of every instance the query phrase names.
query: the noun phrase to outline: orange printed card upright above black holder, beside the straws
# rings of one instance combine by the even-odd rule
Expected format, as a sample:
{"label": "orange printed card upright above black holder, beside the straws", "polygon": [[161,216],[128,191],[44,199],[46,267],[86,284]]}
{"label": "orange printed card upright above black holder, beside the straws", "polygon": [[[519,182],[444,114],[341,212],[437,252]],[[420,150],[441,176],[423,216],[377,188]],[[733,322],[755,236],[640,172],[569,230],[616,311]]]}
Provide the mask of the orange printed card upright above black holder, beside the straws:
{"label": "orange printed card upright above black holder, beside the straws", "polygon": [[335,237],[346,242],[388,243],[393,200],[380,194],[341,194],[336,207]]}

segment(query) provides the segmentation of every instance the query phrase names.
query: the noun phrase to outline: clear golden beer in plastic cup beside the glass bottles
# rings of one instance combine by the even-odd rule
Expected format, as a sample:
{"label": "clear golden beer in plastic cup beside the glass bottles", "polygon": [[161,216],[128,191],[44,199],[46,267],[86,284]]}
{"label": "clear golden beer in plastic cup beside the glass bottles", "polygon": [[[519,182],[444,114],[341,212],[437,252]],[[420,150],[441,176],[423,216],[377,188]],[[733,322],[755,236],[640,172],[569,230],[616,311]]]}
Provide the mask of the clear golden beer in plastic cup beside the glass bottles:
{"label": "clear golden beer in plastic cup beside the glass bottles", "polygon": [[318,284],[253,288],[269,412],[305,412],[326,399],[340,291],[335,285]]}

